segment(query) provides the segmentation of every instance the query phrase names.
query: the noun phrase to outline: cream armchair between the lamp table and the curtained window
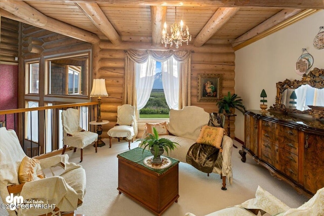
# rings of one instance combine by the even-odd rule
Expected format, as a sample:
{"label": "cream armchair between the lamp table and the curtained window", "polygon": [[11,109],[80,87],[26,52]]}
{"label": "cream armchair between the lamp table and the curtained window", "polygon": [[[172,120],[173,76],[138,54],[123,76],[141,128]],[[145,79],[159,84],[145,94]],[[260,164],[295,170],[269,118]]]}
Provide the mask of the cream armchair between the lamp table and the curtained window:
{"label": "cream armchair between the lamp table and the curtained window", "polygon": [[130,104],[124,104],[117,107],[117,122],[107,132],[109,136],[109,148],[111,148],[111,138],[126,137],[128,140],[128,148],[131,149],[131,140],[133,143],[135,132],[135,107]]}

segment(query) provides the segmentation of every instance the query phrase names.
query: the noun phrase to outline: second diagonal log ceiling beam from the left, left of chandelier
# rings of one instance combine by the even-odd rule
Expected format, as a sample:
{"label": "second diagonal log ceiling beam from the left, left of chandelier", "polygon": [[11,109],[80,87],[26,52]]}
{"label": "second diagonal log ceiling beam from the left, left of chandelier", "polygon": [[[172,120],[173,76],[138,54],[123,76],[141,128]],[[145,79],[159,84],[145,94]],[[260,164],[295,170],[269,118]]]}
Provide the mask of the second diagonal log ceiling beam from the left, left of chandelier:
{"label": "second diagonal log ceiling beam from the left, left of chandelier", "polygon": [[76,5],[89,17],[93,24],[108,37],[113,45],[121,43],[119,34],[96,3],[78,3]]}

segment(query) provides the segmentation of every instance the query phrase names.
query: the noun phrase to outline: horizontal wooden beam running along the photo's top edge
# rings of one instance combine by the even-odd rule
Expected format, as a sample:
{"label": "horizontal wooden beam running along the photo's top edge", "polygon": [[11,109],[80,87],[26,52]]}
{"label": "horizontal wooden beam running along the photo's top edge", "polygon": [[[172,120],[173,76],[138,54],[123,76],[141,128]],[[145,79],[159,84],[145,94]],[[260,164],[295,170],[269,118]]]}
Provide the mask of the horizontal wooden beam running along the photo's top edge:
{"label": "horizontal wooden beam running along the photo's top edge", "polygon": [[[35,0],[24,0],[35,1]],[[48,2],[48,1],[44,1]],[[324,9],[323,0],[56,0],[64,3],[100,3],[118,5],[141,5],[141,6],[183,6],[183,7],[225,7],[225,8],[300,8],[300,9]]]}

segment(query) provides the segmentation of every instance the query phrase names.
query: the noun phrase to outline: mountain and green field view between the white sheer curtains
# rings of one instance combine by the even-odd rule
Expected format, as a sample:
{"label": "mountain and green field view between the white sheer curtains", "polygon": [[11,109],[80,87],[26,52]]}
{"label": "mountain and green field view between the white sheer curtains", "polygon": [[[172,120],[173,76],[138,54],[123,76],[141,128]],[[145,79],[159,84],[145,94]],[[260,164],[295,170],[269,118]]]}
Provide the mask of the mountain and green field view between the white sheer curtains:
{"label": "mountain and green field view between the white sheer curtains", "polygon": [[146,105],[140,110],[140,118],[169,118],[169,111],[163,91],[161,63],[156,62],[153,89]]}

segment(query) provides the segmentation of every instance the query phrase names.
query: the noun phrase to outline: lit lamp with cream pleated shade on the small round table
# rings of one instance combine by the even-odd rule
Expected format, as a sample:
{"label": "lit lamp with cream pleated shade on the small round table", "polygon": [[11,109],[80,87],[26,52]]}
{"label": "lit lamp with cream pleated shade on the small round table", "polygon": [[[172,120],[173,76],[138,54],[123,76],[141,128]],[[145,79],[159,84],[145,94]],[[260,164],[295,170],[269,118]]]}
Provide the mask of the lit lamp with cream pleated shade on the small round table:
{"label": "lit lamp with cream pleated shade on the small round table", "polygon": [[101,120],[101,111],[100,111],[100,104],[101,104],[101,97],[108,97],[108,93],[106,90],[106,83],[105,79],[94,79],[92,90],[90,93],[91,98],[98,98],[98,107],[97,107],[97,122],[102,122]]}

